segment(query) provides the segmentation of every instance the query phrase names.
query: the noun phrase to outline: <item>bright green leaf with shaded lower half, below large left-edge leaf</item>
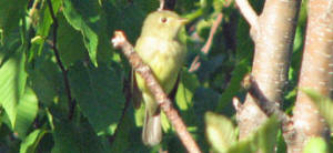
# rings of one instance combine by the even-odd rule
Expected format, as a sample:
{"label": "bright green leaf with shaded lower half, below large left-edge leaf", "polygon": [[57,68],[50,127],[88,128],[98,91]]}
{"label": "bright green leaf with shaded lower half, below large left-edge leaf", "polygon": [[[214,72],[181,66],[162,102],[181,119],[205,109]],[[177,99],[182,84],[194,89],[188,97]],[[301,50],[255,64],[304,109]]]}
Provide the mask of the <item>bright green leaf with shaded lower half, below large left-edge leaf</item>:
{"label": "bright green leaf with shaded lower half, below large left-edge leaf", "polygon": [[26,88],[26,92],[20,99],[20,103],[18,105],[18,114],[14,128],[14,131],[18,132],[19,137],[26,137],[26,133],[36,119],[37,112],[38,99],[30,88]]}

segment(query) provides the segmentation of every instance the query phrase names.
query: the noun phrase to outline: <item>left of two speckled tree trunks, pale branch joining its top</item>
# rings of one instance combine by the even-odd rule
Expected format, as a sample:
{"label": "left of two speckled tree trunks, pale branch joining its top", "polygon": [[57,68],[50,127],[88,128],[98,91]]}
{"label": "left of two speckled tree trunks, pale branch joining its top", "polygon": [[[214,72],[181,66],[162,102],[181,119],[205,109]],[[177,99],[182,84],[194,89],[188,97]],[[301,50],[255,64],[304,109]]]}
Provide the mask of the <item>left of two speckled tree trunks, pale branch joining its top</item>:
{"label": "left of two speckled tree trunks, pale branch joining its top", "polygon": [[[252,76],[268,102],[274,103],[278,108],[282,104],[283,90],[287,83],[300,4],[301,0],[266,0],[256,20],[246,19],[252,27],[251,35],[255,44]],[[242,8],[240,9],[242,11]],[[246,95],[241,108],[236,115],[242,140],[268,116],[251,94]]]}

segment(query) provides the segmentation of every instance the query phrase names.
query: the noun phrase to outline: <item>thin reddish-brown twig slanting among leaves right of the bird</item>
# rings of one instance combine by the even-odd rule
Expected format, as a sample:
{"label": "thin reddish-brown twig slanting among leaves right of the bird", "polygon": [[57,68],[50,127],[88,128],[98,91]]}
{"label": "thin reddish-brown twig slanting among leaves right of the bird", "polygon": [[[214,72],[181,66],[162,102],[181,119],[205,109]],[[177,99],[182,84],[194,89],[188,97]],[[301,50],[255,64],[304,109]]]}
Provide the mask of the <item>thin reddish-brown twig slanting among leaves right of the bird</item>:
{"label": "thin reddish-brown twig slanting among leaves right of the bird", "polygon": [[[214,34],[216,33],[218,28],[219,28],[220,23],[222,22],[222,19],[223,19],[223,14],[222,14],[222,12],[220,12],[218,14],[218,17],[216,17],[216,20],[214,21],[214,23],[213,23],[213,26],[211,28],[210,35],[209,35],[205,44],[201,48],[201,52],[202,53],[204,53],[204,54],[209,53],[209,51],[210,51],[210,49],[212,47],[212,43],[213,43]],[[191,63],[191,67],[189,69],[189,72],[194,72],[194,71],[196,71],[200,68],[201,63],[200,63],[199,59],[200,59],[200,55],[196,55],[194,58],[194,60]]]}

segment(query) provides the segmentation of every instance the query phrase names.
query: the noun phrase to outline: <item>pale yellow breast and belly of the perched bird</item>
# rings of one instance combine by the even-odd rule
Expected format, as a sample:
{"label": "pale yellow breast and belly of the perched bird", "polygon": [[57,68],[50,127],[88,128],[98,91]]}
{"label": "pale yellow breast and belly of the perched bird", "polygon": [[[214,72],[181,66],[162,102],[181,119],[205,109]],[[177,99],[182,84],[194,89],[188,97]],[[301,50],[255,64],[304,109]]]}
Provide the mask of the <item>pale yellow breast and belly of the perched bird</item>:
{"label": "pale yellow breast and belly of the perched bird", "polygon": [[185,45],[175,40],[144,37],[138,40],[135,50],[150,65],[164,90],[171,90],[169,85],[174,84],[184,61]]}

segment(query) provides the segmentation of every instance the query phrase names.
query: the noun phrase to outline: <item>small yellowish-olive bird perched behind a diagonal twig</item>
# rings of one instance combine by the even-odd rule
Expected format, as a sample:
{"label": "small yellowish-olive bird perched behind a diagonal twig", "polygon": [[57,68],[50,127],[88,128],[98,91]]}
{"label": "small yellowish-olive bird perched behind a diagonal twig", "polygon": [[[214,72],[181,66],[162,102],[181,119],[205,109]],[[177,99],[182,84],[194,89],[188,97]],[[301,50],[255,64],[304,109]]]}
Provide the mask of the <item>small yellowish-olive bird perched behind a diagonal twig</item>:
{"label": "small yellowish-olive bird perched behind a diagonal twig", "polygon": [[[186,45],[180,41],[179,34],[186,22],[186,19],[170,10],[151,12],[144,19],[134,47],[167,94],[174,88],[185,60]],[[140,74],[135,73],[134,78],[145,108],[142,141],[154,146],[162,141],[160,106]]]}

